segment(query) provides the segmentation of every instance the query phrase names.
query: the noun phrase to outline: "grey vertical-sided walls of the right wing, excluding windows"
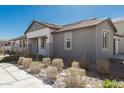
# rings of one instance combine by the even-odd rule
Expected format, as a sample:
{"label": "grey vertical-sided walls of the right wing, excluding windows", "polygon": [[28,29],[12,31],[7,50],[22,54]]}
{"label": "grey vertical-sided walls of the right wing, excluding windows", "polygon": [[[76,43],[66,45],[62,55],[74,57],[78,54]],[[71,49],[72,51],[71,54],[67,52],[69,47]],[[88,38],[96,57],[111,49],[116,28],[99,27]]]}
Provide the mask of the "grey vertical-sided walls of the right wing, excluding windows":
{"label": "grey vertical-sided walls of the right wing, excluding windows", "polygon": [[[103,29],[110,32],[110,50],[102,50]],[[61,58],[87,57],[95,62],[97,58],[108,58],[113,55],[113,32],[114,29],[108,22],[82,29],[71,30],[72,50],[64,50],[64,32],[54,34],[54,56]],[[66,31],[65,31],[66,32]]]}

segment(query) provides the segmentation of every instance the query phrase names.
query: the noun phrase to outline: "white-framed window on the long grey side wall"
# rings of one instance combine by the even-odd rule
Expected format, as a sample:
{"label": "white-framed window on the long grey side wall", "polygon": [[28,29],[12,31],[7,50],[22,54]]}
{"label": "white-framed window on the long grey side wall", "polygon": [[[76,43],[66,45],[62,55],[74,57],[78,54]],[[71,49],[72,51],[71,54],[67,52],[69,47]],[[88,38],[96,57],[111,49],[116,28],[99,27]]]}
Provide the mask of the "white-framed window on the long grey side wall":
{"label": "white-framed window on the long grey side wall", "polygon": [[65,50],[72,49],[72,33],[71,32],[64,33],[64,49]]}

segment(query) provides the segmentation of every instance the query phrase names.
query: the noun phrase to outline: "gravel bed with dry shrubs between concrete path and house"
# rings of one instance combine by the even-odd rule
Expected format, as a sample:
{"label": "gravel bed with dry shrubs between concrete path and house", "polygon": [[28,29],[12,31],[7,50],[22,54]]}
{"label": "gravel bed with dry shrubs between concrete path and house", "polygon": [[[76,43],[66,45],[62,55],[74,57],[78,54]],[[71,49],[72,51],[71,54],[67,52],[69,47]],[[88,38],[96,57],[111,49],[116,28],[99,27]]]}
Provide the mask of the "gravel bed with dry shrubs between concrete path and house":
{"label": "gravel bed with dry shrubs between concrete path and house", "polygon": [[[3,63],[12,64],[27,74],[41,80],[44,85],[53,88],[124,87],[123,72],[110,71],[110,62],[107,59],[98,59],[96,70],[90,69],[90,62],[87,59],[80,59],[79,61],[69,60],[68,67],[64,67],[64,60],[61,58],[51,59],[44,57],[41,61],[33,61],[29,57],[19,57],[17,61],[13,61],[8,55],[1,56],[0,65]],[[114,65],[114,63],[111,64]]]}

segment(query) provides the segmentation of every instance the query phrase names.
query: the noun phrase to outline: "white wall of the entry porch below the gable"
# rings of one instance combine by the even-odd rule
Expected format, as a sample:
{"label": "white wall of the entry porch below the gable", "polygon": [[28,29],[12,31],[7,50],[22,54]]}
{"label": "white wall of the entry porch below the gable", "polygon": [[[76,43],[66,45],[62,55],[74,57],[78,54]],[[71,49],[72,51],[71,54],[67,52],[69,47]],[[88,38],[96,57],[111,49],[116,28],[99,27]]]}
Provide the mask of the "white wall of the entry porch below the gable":
{"label": "white wall of the entry porch below the gable", "polygon": [[[29,40],[29,43],[32,45],[32,49],[34,50],[33,46],[34,46],[34,43],[32,43],[33,39],[38,39],[38,53],[40,55],[44,55],[44,56],[53,56],[52,52],[53,52],[53,36],[51,34],[52,32],[52,29],[49,29],[49,28],[44,28],[44,29],[40,29],[40,30],[36,30],[36,31],[32,31],[32,32],[28,32],[26,35],[27,35],[27,38]],[[48,39],[46,41],[46,48],[43,50],[41,49],[41,40],[40,38],[43,37],[43,36],[47,36]],[[35,49],[36,50],[36,49]],[[43,54],[42,54],[43,53]]]}

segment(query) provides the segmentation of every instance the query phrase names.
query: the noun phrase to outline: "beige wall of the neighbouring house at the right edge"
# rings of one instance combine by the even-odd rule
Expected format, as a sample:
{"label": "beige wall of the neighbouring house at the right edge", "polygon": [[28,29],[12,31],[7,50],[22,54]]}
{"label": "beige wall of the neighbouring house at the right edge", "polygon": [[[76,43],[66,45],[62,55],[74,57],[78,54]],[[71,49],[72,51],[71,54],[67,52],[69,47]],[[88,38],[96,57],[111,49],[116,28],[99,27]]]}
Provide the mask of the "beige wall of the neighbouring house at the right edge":
{"label": "beige wall of the neighbouring house at the right edge", "polygon": [[[114,22],[115,27],[118,30],[118,33],[123,35],[124,34],[124,21]],[[120,38],[119,46],[118,46],[118,53],[124,54],[124,38]]]}

